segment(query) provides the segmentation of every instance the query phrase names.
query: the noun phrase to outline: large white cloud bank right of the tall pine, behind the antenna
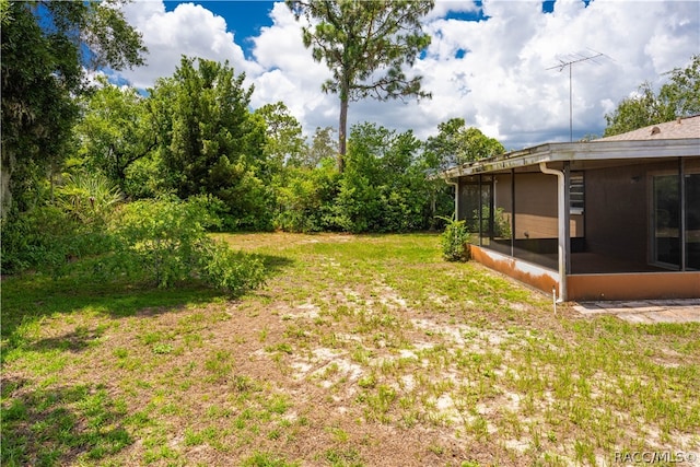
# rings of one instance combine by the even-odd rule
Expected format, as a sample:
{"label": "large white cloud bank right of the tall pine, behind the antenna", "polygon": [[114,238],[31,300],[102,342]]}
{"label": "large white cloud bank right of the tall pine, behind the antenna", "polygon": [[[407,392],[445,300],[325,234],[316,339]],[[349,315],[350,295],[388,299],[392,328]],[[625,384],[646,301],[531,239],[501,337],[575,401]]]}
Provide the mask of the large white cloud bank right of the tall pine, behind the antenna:
{"label": "large white cloud bank right of the tall pine, behind the antenna", "polygon": [[[600,133],[610,102],[685,66],[700,45],[695,1],[558,0],[542,13],[540,1],[491,0],[483,10],[488,21],[427,24],[433,44],[422,72],[434,97],[421,110],[434,126],[456,113],[513,149],[568,140],[569,69],[547,70],[559,60],[607,56],[573,65],[575,138]],[[462,60],[458,48],[468,50]]]}

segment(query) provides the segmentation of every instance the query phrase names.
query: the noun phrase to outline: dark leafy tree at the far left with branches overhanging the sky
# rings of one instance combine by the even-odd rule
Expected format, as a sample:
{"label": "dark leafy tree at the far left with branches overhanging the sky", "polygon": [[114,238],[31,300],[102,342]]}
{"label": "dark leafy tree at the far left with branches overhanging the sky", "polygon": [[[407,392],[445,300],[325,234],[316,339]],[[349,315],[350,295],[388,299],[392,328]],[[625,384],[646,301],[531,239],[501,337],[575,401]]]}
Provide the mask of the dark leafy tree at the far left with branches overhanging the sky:
{"label": "dark leafy tree at the far left with branches overhanging the sky", "polygon": [[79,116],[86,68],[142,65],[141,36],[116,1],[11,1],[2,5],[2,201],[31,205],[56,168]]}

